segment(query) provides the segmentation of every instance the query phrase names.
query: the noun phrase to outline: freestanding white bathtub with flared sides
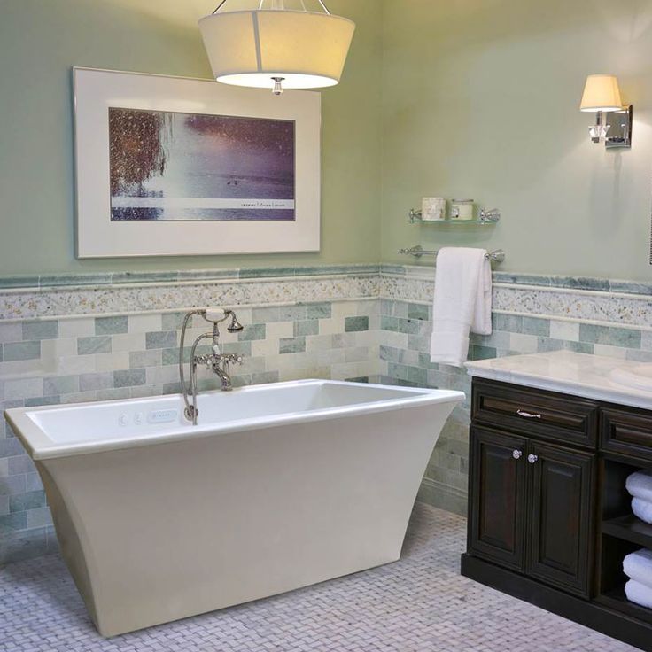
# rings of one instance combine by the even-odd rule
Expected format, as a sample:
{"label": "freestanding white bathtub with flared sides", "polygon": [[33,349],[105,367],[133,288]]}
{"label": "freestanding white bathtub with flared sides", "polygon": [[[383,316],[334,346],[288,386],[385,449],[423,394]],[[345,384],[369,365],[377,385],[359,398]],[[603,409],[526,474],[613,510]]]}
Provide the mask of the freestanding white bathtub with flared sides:
{"label": "freestanding white bathtub with flared sides", "polygon": [[5,413],[104,636],[396,561],[461,392],[308,380]]}

